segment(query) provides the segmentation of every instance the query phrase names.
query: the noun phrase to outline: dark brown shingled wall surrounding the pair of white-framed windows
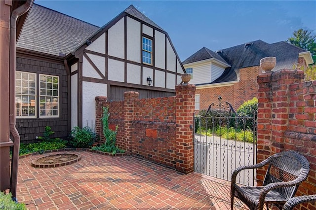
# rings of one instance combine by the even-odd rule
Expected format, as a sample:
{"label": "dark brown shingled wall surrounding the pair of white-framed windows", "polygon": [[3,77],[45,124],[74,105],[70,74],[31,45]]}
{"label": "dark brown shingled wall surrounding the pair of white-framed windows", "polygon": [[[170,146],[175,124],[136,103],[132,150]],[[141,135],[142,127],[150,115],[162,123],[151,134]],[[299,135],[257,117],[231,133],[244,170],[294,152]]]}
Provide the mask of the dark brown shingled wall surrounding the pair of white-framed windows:
{"label": "dark brown shingled wall surrounding the pair of white-framed windows", "polygon": [[[67,72],[64,64],[48,61],[32,60],[17,56],[16,70],[59,76],[59,100],[60,113],[57,118],[17,118],[16,128],[20,134],[21,142],[33,142],[36,136],[43,136],[45,126],[50,126],[55,134],[53,138],[67,138],[70,131],[68,129],[68,93],[67,93]],[[39,81],[37,80],[37,94],[39,94]],[[38,100],[39,101],[39,100]],[[39,106],[37,106],[37,111]]]}

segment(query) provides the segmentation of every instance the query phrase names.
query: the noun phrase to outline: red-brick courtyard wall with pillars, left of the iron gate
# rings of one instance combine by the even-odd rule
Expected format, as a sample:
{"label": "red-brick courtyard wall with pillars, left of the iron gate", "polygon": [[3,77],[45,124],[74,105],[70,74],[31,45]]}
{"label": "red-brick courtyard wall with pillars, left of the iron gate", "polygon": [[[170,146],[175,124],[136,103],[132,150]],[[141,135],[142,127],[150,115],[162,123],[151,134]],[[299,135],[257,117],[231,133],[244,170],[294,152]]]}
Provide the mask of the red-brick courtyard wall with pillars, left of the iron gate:
{"label": "red-brick courtyard wall with pillars, left of the iron gate", "polygon": [[[175,97],[138,99],[125,92],[124,101],[96,97],[96,132],[103,137],[102,107],[109,106],[109,126],[118,125],[117,145],[131,155],[183,173],[193,172],[193,113],[196,87],[177,85]],[[104,137],[101,139],[104,142]]]}

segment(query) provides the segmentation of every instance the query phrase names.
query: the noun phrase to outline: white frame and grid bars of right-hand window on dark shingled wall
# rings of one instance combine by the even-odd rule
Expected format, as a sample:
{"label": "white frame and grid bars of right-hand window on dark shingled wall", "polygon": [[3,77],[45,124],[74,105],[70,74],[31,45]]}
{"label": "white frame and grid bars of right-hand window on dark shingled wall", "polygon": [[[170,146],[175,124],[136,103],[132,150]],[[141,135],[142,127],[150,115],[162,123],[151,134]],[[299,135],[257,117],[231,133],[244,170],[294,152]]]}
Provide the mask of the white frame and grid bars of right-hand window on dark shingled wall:
{"label": "white frame and grid bars of right-hand window on dark shingled wall", "polygon": [[[49,76],[49,77],[57,77],[58,78],[58,82],[57,82],[57,96],[53,95],[53,91],[56,91],[53,89],[53,83],[52,83],[52,88],[51,89],[47,89],[47,80],[45,80],[45,82],[41,81],[41,76]],[[41,83],[45,84],[45,88],[41,88]],[[39,117],[40,118],[58,118],[60,115],[60,77],[56,76],[56,75],[49,75],[49,74],[39,74]],[[41,90],[45,90],[45,95],[42,94]],[[51,95],[47,95],[47,90],[51,90],[52,94]],[[45,97],[45,102],[40,102],[41,98]],[[48,100],[49,99],[49,100]],[[57,100],[57,101],[55,101]],[[53,109],[53,103],[57,103],[57,109]],[[45,105],[45,108],[41,108],[41,105]],[[46,109],[46,105],[50,105],[51,108],[50,109],[50,113],[52,114],[54,110],[57,110],[57,115],[41,115],[41,111],[45,111],[45,113],[47,113]]]}

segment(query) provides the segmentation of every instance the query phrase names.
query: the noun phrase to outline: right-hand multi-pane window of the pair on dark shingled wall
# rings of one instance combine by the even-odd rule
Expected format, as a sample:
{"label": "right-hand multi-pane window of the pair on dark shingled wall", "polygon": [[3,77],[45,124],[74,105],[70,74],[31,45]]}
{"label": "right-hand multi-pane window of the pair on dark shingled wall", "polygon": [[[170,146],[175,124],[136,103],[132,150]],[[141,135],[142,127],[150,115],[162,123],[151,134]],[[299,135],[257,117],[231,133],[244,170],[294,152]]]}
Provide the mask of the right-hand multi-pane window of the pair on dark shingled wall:
{"label": "right-hand multi-pane window of the pair on dark shingled wall", "polygon": [[59,116],[59,77],[40,74],[40,117]]}

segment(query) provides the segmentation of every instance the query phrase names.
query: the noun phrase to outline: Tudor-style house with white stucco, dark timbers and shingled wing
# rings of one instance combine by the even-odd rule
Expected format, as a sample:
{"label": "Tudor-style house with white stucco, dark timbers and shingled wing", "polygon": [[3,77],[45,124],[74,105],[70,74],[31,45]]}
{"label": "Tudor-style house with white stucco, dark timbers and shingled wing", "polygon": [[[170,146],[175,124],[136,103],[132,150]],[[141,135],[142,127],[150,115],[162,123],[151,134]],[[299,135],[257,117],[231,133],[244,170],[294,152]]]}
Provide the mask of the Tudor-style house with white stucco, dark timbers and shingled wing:
{"label": "Tudor-style house with white stucco, dark timbers and shingled wing", "polygon": [[45,126],[60,138],[74,126],[94,126],[95,96],[175,96],[185,72],[169,35],[133,5],[99,28],[33,4],[16,57],[22,142],[42,136]]}

